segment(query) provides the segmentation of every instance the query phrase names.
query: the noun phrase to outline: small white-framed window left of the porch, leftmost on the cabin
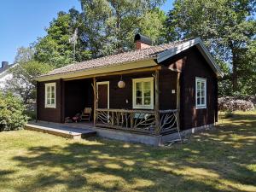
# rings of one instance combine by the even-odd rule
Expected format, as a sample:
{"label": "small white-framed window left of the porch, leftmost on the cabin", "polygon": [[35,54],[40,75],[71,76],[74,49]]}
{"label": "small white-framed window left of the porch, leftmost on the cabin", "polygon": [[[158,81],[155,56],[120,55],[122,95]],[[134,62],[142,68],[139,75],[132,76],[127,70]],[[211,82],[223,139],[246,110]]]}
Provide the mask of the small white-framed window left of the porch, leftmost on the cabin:
{"label": "small white-framed window left of the porch, leftmost on the cabin", "polygon": [[56,107],[56,84],[45,84],[45,108]]}

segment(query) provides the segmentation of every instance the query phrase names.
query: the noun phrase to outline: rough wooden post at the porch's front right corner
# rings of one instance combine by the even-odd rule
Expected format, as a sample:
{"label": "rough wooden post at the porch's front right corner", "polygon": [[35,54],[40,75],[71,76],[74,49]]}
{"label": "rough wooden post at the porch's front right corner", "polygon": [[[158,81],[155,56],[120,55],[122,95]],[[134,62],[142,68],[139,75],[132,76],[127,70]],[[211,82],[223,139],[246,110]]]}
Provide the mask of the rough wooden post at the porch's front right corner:
{"label": "rough wooden post at the porch's front right corner", "polygon": [[160,134],[160,104],[159,104],[159,70],[154,72],[154,114],[155,114],[155,133]]}

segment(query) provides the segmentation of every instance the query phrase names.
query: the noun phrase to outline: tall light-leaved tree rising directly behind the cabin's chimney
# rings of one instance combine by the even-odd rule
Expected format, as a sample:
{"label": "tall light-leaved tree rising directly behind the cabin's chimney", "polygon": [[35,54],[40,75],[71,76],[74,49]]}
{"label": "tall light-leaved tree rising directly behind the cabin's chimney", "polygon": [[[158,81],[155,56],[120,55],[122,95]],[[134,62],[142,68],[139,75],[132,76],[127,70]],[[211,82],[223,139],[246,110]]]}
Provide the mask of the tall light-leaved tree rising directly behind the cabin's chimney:
{"label": "tall light-leaved tree rising directly behind the cabin's chimney", "polygon": [[[80,0],[84,20],[84,41],[93,57],[133,48],[136,32],[146,32],[158,42],[163,28],[163,0]],[[151,23],[149,25],[149,19]]]}

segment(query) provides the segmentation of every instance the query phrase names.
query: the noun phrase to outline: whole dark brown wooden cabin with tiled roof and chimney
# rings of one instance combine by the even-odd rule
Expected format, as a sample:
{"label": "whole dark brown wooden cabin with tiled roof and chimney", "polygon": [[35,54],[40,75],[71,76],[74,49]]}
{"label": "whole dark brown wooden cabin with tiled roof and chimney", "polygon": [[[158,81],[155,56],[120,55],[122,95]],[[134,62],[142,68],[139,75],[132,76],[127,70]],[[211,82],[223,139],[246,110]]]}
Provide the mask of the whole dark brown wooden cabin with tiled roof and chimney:
{"label": "whole dark brown wooden cabin with tiled roof and chimney", "polygon": [[97,132],[142,143],[149,137],[163,141],[177,127],[213,125],[223,73],[201,39],[150,46],[150,39],[137,34],[135,42],[135,50],[38,77],[38,120],[64,123],[92,108]]}

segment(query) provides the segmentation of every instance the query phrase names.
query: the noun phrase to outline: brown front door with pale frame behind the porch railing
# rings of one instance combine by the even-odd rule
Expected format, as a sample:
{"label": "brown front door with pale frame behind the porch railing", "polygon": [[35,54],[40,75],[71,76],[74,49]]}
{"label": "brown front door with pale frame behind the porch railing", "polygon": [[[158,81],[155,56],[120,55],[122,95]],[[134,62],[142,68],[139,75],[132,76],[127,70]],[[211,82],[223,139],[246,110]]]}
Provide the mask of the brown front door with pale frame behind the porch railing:
{"label": "brown front door with pale frame behind the porch railing", "polygon": [[98,108],[109,108],[109,81],[97,82]]}

